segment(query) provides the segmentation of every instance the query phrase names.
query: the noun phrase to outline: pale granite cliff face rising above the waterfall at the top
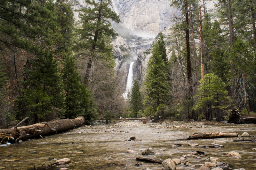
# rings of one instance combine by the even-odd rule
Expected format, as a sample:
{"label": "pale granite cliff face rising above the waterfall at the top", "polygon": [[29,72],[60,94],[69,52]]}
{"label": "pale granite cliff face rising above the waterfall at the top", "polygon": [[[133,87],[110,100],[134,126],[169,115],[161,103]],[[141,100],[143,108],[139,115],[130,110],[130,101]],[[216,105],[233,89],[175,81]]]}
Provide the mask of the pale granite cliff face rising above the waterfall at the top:
{"label": "pale granite cliff face rising above the waterfall at the top", "polygon": [[122,26],[144,37],[155,36],[170,26],[176,12],[169,0],[112,0],[112,3]]}

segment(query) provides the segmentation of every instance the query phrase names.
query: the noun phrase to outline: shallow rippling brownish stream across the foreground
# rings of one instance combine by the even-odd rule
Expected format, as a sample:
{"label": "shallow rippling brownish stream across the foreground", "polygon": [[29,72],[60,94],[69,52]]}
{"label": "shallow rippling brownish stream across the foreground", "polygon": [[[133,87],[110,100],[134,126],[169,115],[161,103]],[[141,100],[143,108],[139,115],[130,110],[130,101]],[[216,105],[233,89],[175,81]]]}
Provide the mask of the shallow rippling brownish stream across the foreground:
{"label": "shallow rippling brownish stream across the foreground", "polygon": [[[152,170],[160,170],[161,164],[142,162],[142,166],[132,165],[138,163],[136,157],[141,156],[140,149],[151,148],[152,151],[156,152],[156,155],[147,156],[149,158],[173,159],[180,158],[182,155],[193,151],[187,146],[188,143],[207,145],[211,144],[214,140],[173,141],[173,139],[188,137],[195,132],[237,132],[242,134],[246,131],[249,135],[256,135],[256,125],[221,125],[199,128],[191,124],[187,129],[168,128],[171,125],[171,122],[168,124],[140,123],[139,126],[125,124],[107,126],[98,124],[92,127],[81,127],[62,134],[0,147],[0,169],[33,170],[34,166],[40,167],[43,164],[45,166],[54,163],[56,159],[69,158],[71,163],[68,166],[52,166],[52,169],[68,167],[68,169],[77,170],[140,170],[149,167]],[[157,126],[160,126],[160,128]],[[156,129],[156,127],[159,129]],[[120,133],[120,130],[124,130],[126,133]],[[142,141],[124,141],[124,139],[130,136],[141,138]],[[252,150],[252,148],[256,148],[256,143],[233,142],[234,139],[236,138],[219,138],[218,140],[226,142],[222,144],[224,148],[219,149],[203,148],[202,146],[193,147],[197,151],[205,152],[207,156],[203,155],[199,158],[187,157],[188,162],[190,162],[189,166],[180,165],[176,166],[176,169],[197,169],[198,167],[195,165],[204,163],[204,160],[208,157],[217,157],[221,161],[226,161],[233,169],[256,169],[256,151]],[[72,144],[72,142],[76,144]],[[172,148],[173,144],[181,144],[181,146]],[[161,151],[160,149],[166,149],[166,151]],[[136,153],[127,153],[127,150],[134,150]],[[242,157],[228,157],[222,154],[223,152],[230,151],[239,152]],[[113,163],[117,165],[113,165]],[[118,165],[120,163],[128,165]]]}

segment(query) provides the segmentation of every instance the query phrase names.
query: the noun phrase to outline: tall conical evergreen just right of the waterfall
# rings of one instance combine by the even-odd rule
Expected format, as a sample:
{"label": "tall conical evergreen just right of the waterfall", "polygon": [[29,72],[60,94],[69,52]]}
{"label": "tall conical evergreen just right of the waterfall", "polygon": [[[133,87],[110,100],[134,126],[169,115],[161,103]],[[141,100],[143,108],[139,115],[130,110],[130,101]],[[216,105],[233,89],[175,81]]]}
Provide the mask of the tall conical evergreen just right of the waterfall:
{"label": "tall conical evergreen just right of the waterfall", "polygon": [[[166,53],[162,45],[163,36],[159,36],[159,40],[154,44],[152,55],[149,58],[146,75],[147,99],[149,105],[157,108],[164,103],[167,98],[169,85],[167,83],[167,64],[164,61]],[[158,119],[157,113],[156,119]]]}

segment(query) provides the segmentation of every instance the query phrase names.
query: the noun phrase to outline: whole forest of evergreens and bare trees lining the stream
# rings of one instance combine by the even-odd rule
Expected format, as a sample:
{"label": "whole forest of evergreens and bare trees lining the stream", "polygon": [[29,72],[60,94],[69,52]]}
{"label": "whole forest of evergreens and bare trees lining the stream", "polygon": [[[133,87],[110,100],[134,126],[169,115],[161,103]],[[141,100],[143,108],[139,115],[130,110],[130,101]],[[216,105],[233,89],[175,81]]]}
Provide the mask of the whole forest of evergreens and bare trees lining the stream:
{"label": "whole forest of evergreens and bare trees lining the stream", "polygon": [[[0,1],[0,126],[84,116],[220,121],[256,108],[256,3],[170,0],[179,15],[148,50],[147,74],[128,99],[111,42],[111,0]],[[79,12],[75,21],[74,12]],[[127,36],[127,35],[126,35]],[[128,36],[134,36],[128,34]],[[167,56],[170,53],[170,56]]]}

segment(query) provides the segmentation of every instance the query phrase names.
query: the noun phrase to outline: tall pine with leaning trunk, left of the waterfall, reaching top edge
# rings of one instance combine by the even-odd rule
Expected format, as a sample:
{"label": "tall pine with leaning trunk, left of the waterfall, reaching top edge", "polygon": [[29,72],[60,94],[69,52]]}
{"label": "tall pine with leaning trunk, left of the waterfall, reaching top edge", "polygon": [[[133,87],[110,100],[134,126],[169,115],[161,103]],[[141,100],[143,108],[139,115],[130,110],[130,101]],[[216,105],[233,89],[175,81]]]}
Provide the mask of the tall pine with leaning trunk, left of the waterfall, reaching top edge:
{"label": "tall pine with leaning trunk, left of the waterfall, reaching top edge", "polygon": [[[86,40],[85,43],[80,43],[83,47],[90,48],[94,53],[95,49],[106,50],[105,37],[116,35],[111,22],[120,22],[116,12],[111,10],[111,0],[85,0],[92,8],[82,8],[78,10],[82,29],[80,30],[81,40]],[[87,69],[85,71],[85,81],[89,80],[89,74],[92,67],[92,55],[88,59]]]}

